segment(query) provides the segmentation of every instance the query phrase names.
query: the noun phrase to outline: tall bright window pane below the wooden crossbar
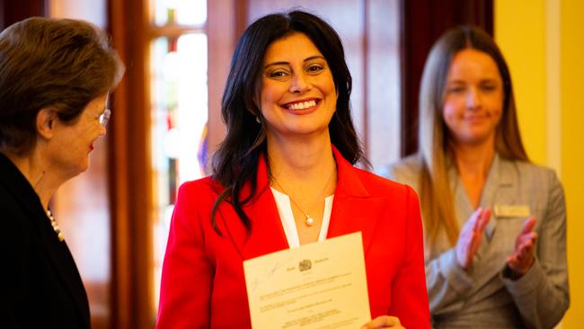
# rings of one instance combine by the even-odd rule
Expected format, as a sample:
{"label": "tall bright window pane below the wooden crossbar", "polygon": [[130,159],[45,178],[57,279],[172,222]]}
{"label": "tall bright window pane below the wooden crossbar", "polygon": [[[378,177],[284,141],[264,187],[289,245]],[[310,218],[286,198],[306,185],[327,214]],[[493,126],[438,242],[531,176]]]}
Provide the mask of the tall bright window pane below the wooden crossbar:
{"label": "tall bright window pane below the wooden crossbar", "polygon": [[155,191],[155,305],[178,187],[204,175],[208,120],[207,35],[152,43],[152,165]]}

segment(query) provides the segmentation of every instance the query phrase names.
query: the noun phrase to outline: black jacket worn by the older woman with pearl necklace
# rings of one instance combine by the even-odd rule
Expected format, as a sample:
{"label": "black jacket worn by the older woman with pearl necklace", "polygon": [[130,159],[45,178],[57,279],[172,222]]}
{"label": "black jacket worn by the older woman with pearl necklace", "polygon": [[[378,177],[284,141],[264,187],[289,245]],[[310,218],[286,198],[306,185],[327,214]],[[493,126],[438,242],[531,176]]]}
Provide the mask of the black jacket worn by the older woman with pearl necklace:
{"label": "black jacket worn by the older woman with pearl necklace", "polygon": [[37,193],[0,153],[0,326],[90,328],[79,271]]}

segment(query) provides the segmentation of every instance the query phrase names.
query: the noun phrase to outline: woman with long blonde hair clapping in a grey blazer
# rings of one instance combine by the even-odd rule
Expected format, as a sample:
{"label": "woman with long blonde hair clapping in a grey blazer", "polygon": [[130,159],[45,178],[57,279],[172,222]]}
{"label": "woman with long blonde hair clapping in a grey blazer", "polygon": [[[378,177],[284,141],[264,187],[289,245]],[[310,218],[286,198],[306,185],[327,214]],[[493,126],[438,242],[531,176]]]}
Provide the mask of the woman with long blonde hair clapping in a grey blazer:
{"label": "woman with long blonde hair clapping in a grey blazer", "polygon": [[551,328],[562,319],[562,185],[529,162],[509,68],[484,31],[459,27],[434,45],[420,87],[420,151],[384,171],[420,195],[434,327]]}

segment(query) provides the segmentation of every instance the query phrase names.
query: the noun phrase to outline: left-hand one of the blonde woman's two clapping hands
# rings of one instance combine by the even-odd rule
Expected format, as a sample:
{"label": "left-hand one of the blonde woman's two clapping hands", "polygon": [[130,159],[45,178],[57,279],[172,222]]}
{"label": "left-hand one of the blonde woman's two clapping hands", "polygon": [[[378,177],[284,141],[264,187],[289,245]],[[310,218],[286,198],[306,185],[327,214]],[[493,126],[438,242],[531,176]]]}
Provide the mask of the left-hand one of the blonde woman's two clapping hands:
{"label": "left-hand one of the blonde woman's two clapping hands", "polygon": [[456,241],[456,261],[463,269],[468,270],[473,265],[473,257],[479,249],[484,228],[491,219],[491,208],[476,209],[463,226]]}

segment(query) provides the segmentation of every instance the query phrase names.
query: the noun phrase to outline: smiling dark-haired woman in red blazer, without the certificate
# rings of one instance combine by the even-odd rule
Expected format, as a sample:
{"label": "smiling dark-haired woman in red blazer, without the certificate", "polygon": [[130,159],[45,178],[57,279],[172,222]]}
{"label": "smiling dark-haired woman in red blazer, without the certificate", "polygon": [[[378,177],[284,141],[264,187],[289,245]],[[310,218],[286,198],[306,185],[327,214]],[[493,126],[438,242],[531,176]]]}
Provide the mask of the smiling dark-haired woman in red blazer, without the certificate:
{"label": "smiling dark-haired woman in red blazer, without the certificate", "polygon": [[[310,13],[244,31],[211,177],[181,186],[157,328],[251,327],[243,261],[360,231],[367,328],[429,328],[418,198],[367,165],[350,118],[341,40]],[[403,325],[403,326],[402,326]]]}

